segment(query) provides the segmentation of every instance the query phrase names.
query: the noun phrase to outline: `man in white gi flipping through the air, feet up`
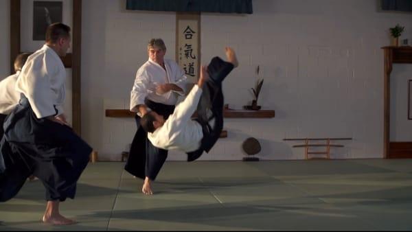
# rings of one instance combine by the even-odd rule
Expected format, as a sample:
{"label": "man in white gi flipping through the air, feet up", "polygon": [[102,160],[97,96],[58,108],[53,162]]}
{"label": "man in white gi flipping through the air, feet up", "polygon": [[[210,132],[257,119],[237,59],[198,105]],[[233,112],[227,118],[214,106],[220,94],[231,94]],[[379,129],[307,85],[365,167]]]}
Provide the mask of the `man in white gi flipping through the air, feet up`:
{"label": "man in white gi flipping through the air, feet up", "polygon": [[[222,81],[238,66],[233,49],[225,49],[229,62],[214,57],[207,68],[202,67],[201,78],[167,120],[153,111],[141,119],[153,146],[183,150],[187,161],[198,159],[214,146],[223,128]],[[198,118],[192,120],[195,112]]]}

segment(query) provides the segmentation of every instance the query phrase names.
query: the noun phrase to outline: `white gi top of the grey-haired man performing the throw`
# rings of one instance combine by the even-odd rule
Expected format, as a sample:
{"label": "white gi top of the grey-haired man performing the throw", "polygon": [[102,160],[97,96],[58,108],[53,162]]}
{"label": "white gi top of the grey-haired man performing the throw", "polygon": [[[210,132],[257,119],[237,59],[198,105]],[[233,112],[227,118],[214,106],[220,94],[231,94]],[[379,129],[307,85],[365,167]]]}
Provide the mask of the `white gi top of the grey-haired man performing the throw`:
{"label": "white gi top of the grey-haired man performing the throw", "polygon": [[[184,71],[173,60],[165,59],[164,62],[166,70],[150,58],[137,70],[135,83],[130,93],[130,111],[139,112],[137,105],[144,104],[146,97],[153,102],[175,105],[177,94],[185,94],[187,77]],[[156,86],[166,83],[176,84],[183,89],[183,92],[169,91],[162,95],[156,93]]]}

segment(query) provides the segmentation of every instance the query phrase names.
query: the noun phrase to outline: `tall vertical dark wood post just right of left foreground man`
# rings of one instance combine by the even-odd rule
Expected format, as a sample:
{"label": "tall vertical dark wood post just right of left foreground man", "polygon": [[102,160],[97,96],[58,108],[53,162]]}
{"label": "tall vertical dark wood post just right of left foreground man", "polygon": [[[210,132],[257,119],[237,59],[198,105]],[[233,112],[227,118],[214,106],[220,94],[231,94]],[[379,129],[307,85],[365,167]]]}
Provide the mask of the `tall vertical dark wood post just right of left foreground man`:
{"label": "tall vertical dark wood post just right of left foreground man", "polygon": [[81,135],[82,0],[73,0],[72,117],[73,130]]}

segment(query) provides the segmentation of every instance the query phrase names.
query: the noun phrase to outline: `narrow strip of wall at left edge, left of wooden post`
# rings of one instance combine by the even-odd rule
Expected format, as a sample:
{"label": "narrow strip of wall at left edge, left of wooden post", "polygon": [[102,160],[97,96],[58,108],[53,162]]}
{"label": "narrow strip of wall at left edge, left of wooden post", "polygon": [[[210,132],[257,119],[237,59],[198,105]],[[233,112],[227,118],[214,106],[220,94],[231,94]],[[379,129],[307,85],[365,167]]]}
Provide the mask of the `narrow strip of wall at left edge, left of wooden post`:
{"label": "narrow strip of wall at left edge, left of wooden post", "polygon": [[10,1],[0,1],[0,80],[10,75]]}

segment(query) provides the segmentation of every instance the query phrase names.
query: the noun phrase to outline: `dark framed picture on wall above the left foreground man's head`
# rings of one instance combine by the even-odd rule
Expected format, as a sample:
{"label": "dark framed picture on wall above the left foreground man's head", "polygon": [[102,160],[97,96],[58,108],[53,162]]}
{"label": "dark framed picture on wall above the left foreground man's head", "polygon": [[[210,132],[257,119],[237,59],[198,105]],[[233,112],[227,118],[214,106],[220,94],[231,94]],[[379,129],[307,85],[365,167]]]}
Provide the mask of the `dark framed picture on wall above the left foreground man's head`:
{"label": "dark framed picture on wall above the left foreground man's head", "polygon": [[47,27],[62,21],[62,1],[34,1],[33,40],[45,40]]}

